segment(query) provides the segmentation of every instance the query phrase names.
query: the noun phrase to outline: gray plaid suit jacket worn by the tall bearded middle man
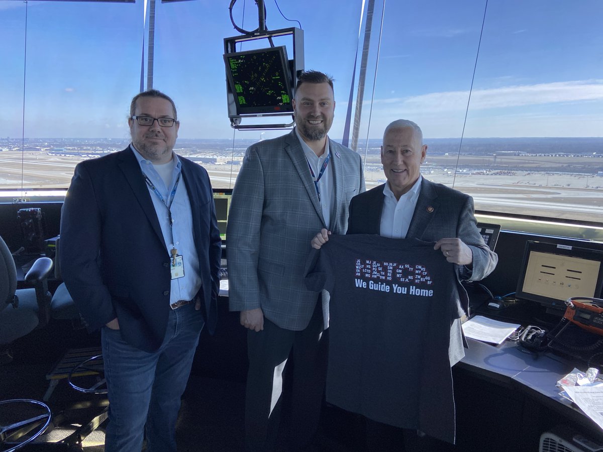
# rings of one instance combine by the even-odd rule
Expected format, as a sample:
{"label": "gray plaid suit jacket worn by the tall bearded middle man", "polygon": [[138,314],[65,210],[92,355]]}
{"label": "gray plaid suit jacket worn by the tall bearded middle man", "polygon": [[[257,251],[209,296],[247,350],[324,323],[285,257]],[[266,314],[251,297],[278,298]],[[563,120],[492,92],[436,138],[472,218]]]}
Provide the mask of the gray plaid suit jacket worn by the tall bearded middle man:
{"label": "gray plaid suit jacket worn by the tall bearded middle man", "polygon": [[[343,234],[350,200],[364,192],[362,162],[356,152],[330,139],[329,149],[335,182],[330,230]],[[304,265],[312,237],[326,227],[295,131],[250,146],[226,232],[230,310],[261,307],[281,328],[306,328],[318,293],[306,289]]]}

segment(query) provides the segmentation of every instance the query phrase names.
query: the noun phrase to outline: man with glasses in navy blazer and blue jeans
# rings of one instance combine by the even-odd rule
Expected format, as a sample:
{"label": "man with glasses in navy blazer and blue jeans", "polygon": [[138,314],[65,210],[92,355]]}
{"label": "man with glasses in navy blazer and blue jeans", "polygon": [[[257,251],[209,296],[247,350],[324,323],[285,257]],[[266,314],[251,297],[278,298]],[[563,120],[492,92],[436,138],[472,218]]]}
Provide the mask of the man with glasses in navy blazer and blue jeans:
{"label": "man with glasses in navy blazer and blue jeans", "polygon": [[78,164],[61,218],[61,269],[90,331],[101,328],[106,451],[175,450],[175,422],[204,324],[213,333],[221,243],[204,168],[173,152],[174,102],[130,105],[132,143]]}

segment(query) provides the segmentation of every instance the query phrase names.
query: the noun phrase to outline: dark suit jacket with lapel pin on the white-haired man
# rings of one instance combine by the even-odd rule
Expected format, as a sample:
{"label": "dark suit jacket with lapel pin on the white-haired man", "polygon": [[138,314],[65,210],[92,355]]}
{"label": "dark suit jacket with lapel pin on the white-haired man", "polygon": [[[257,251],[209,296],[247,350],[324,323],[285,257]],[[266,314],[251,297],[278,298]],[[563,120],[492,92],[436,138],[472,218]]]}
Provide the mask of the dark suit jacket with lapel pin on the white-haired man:
{"label": "dark suit jacket with lapel pin on the white-haired man", "polygon": [[[385,184],[374,187],[352,199],[348,234],[379,234],[381,213],[385,195]],[[423,178],[417,206],[408,227],[407,238],[417,238],[425,242],[458,237],[471,248],[472,268],[455,265],[459,280],[479,281],[487,277],[496,267],[498,256],[484,243],[476,227],[473,215],[473,198],[442,184],[435,184]],[[458,318],[450,324],[450,366],[464,356],[463,333],[459,318],[467,312],[469,298],[463,287],[459,287],[456,300]]]}

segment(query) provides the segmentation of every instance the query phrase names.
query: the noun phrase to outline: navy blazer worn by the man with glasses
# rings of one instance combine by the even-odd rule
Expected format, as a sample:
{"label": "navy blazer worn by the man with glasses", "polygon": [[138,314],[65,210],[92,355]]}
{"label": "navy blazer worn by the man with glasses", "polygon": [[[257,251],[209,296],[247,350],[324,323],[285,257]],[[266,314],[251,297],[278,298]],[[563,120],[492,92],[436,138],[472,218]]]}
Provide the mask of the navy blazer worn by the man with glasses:
{"label": "navy blazer worn by the man with glasses", "polygon": [[[216,324],[221,242],[207,171],[183,157],[207,328]],[[90,331],[119,319],[122,337],[159,348],[169,315],[170,269],[139,163],[128,147],[75,167],[61,214],[63,280]]]}

